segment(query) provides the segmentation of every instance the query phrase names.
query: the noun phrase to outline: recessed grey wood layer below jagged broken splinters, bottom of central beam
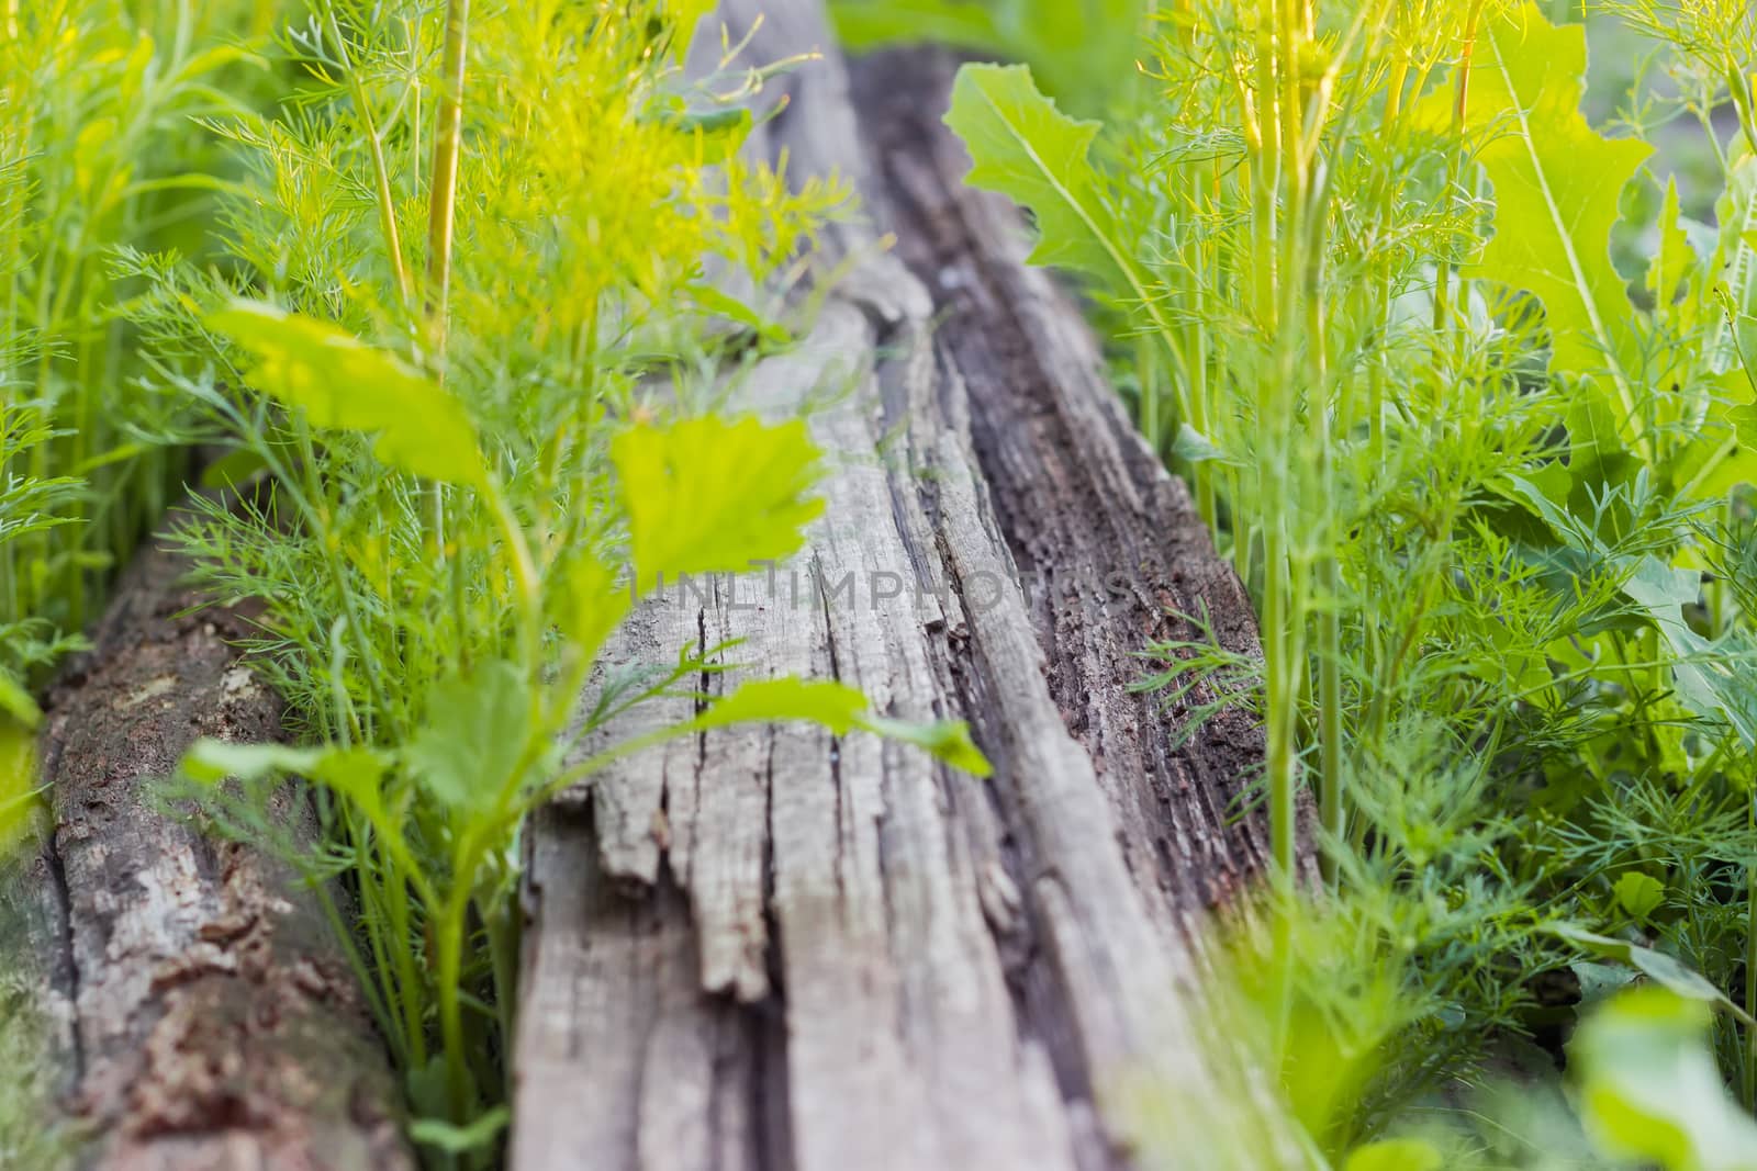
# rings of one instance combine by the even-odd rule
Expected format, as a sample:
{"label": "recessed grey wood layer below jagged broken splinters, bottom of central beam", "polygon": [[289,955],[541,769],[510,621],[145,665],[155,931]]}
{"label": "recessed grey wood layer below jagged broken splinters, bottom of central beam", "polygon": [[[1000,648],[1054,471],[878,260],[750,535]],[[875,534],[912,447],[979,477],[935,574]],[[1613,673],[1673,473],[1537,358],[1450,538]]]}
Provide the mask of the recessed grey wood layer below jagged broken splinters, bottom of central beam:
{"label": "recessed grey wood layer below jagged broken splinters, bottom of central beam", "polygon": [[[647,897],[604,871],[592,811],[562,804],[531,827],[545,932],[520,1001],[518,1160],[546,1167],[778,1166],[759,1064],[764,1024],[699,990],[696,932],[669,873]],[[778,1022],[777,1022],[778,1024]],[[590,1069],[592,1092],[575,1094]],[[545,1110],[527,1110],[538,1097]]]}

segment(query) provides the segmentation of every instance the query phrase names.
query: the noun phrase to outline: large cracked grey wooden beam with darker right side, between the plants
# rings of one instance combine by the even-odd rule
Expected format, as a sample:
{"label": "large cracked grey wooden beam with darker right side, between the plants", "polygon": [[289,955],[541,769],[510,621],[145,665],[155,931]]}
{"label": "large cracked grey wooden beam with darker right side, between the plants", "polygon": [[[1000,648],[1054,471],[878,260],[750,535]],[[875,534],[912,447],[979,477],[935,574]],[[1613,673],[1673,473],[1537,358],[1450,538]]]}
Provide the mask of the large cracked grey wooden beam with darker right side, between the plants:
{"label": "large cracked grey wooden beam with darker right side, between the plants", "polygon": [[840,678],[900,718],[968,718],[996,774],[717,730],[546,809],[513,1167],[1140,1166],[1140,1087],[1212,1088],[1188,1008],[1204,920],[1267,832],[1232,816],[1260,730],[1179,737],[1186,711],[1128,685],[1142,644],[1189,634],[1172,613],[1205,602],[1253,653],[1254,620],[1077,307],[1024,267],[1017,214],[963,188],[951,61],[849,68],[815,0],[727,5],[734,39],[757,7],[748,60],[829,49],[782,79],[770,154],[849,177],[875,221],[829,230],[849,272],[743,388],[815,404],[828,507],[789,564],[668,588],[613,657],[743,639],[710,693]]}

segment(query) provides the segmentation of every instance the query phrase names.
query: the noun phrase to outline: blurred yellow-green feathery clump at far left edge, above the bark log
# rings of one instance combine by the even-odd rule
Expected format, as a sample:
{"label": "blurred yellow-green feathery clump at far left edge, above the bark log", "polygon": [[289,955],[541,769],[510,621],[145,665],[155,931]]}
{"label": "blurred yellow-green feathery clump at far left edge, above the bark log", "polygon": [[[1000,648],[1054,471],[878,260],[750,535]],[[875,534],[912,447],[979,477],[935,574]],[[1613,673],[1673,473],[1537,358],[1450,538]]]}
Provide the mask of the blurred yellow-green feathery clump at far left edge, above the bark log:
{"label": "blurred yellow-green feathery clump at far left edge, above the bark log", "polygon": [[[183,244],[225,179],[193,119],[257,95],[271,5],[16,0],[0,12],[0,853],[37,788],[40,686],[177,492],[119,248]],[[14,751],[14,744],[19,746]]]}

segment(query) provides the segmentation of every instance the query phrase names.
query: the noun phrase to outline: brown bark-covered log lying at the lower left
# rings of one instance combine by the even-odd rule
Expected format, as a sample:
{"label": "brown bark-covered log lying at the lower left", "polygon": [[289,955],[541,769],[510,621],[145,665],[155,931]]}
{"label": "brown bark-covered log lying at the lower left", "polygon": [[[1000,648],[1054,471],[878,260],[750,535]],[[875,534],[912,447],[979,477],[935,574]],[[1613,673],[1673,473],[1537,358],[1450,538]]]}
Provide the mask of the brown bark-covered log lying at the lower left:
{"label": "brown bark-covered log lying at the lower left", "polygon": [[[279,700],[234,646],[246,620],[197,611],[184,569],[153,550],[125,574],[40,741],[53,836],[37,922],[67,1101],[91,1138],[79,1164],[411,1167],[395,1080],[316,897],[151,795],[199,736],[281,732]],[[292,797],[278,813],[307,816]]]}

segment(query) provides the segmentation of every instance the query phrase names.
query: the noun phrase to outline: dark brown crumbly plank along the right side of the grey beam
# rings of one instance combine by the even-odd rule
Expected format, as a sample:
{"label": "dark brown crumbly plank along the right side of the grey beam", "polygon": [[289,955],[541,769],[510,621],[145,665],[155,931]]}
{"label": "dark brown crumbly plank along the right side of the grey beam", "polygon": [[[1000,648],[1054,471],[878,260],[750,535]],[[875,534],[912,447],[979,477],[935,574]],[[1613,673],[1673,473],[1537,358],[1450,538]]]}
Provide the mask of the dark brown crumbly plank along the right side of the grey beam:
{"label": "dark brown crumbly plank along the right side of the grey beam", "polygon": [[968,158],[940,125],[954,65],[936,53],[856,65],[877,170],[870,204],[945,314],[935,346],[965,383],[970,441],[1031,586],[1051,693],[1098,769],[1149,902],[1197,930],[1269,857],[1263,820],[1233,816],[1240,778],[1262,767],[1262,729],[1233,709],[1188,739],[1168,736],[1212,695],[1163,711],[1117,685],[1139,678],[1147,643],[1195,634],[1177,614],[1205,606],[1221,644],[1247,655],[1256,621],[1184,483],[1105,384],[1081,314],[1024,263],[1019,214],[959,183]]}

